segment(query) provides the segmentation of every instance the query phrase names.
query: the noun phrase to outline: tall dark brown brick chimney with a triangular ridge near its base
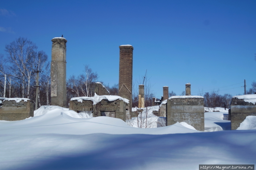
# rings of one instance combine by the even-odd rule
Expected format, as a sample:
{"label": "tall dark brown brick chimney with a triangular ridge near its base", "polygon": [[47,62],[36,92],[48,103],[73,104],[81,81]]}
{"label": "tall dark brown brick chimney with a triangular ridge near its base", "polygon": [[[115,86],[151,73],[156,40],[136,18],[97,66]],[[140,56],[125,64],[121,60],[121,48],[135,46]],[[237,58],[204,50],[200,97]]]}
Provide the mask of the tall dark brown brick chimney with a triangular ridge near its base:
{"label": "tall dark brown brick chimney with a triangular ridge near its base", "polygon": [[128,107],[132,115],[132,55],[133,47],[131,45],[119,46],[119,88],[118,96],[129,100]]}

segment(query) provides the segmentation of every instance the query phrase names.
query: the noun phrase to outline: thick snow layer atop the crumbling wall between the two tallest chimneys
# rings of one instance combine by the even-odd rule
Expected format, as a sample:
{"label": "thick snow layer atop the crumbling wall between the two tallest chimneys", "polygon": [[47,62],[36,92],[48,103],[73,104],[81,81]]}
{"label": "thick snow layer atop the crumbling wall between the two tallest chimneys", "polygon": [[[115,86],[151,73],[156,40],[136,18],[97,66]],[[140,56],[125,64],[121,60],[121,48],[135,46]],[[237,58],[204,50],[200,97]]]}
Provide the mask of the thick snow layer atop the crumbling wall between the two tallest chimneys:
{"label": "thick snow layer atop the crumbling wall between the two tallest chimneys", "polygon": [[104,100],[108,100],[110,102],[119,99],[119,100],[123,100],[125,103],[129,103],[128,99],[125,99],[125,98],[120,97],[120,96],[111,96],[111,95],[99,96],[96,93],[92,97],[86,97],[86,96],[84,96],[84,97],[73,97],[70,100],[77,100],[78,102],[81,102],[81,103],[83,102],[83,100],[91,100],[93,102],[93,105],[95,105],[95,104],[99,103],[103,99]]}

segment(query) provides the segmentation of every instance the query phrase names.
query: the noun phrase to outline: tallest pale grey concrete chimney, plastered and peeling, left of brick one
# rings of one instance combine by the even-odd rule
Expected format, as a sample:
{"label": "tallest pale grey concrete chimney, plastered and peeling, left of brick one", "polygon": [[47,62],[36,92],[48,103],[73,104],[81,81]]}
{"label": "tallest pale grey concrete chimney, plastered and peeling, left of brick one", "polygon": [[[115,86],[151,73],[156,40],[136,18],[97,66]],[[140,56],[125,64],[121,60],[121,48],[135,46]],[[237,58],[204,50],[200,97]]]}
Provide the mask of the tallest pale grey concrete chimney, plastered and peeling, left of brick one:
{"label": "tallest pale grey concrete chimney, plastered and peeling, left of brick one", "polygon": [[66,107],[66,43],[62,37],[52,39],[51,104]]}

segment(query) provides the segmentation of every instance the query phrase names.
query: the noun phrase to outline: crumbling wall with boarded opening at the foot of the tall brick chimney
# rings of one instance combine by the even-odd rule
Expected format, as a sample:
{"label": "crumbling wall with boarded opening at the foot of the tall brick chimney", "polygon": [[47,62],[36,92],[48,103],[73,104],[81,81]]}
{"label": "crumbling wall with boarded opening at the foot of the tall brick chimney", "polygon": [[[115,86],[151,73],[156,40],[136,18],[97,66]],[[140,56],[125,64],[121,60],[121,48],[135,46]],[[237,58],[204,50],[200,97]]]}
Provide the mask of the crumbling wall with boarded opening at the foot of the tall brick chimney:
{"label": "crumbling wall with boarded opening at the foot of the tall brick chimney", "polygon": [[69,110],[79,111],[92,111],[93,117],[109,116],[122,120],[126,120],[126,104],[123,100],[101,100],[99,103],[93,105],[91,100],[83,100],[78,102],[77,100],[69,101]]}

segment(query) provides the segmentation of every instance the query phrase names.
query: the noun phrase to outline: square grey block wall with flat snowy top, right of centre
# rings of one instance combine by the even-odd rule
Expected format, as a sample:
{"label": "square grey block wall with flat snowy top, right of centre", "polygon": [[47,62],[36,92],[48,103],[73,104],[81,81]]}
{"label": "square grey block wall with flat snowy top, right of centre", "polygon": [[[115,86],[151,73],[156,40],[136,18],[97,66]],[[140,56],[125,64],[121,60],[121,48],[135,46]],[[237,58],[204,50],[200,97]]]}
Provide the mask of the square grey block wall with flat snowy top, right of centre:
{"label": "square grey block wall with flat snowy top, right of centre", "polygon": [[166,105],[166,125],[186,122],[204,131],[204,98],[171,98]]}

